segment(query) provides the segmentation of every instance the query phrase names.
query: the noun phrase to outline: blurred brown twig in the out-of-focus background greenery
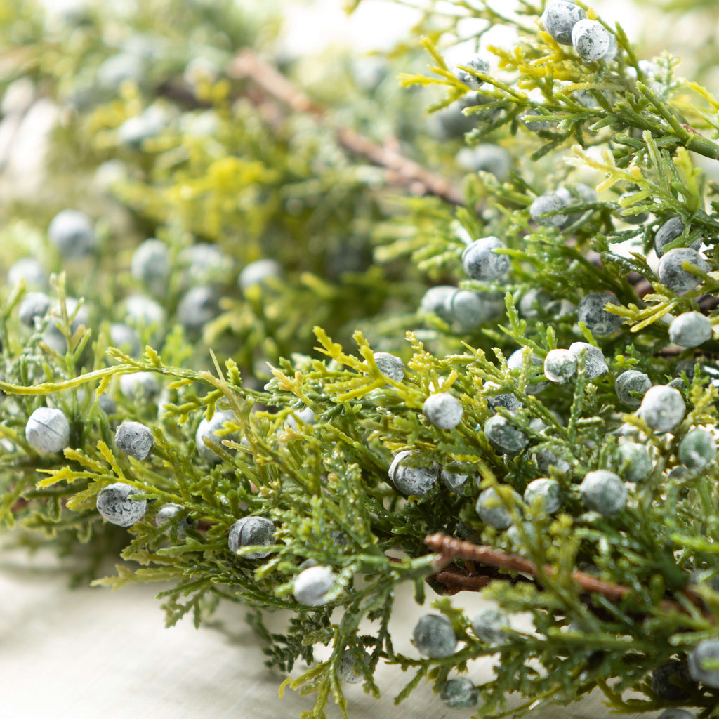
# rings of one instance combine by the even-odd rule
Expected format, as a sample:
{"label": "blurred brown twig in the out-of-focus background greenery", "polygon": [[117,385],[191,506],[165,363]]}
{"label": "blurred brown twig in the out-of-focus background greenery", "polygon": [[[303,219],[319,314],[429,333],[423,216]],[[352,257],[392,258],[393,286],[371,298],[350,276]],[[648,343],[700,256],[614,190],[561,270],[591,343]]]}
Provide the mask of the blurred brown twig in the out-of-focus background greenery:
{"label": "blurred brown twig in the out-of-focus background greenery", "polygon": [[[229,75],[252,80],[267,95],[289,106],[294,112],[310,114],[318,120],[326,118],[324,107],[296,88],[285,78],[285,75],[257,57],[252,50],[243,50],[237,58],[234,58],[229,68]],[[377,145],[347,127],[336,129],[334,132],[337,142],[345,150],[362,155],[378,167],[385,168],[388,171],[388,181],[403,184],[415,194],[434,195],[453,205],[464,204],[462,193],[452,183],[400,155],[393,146],[395,143]]]}

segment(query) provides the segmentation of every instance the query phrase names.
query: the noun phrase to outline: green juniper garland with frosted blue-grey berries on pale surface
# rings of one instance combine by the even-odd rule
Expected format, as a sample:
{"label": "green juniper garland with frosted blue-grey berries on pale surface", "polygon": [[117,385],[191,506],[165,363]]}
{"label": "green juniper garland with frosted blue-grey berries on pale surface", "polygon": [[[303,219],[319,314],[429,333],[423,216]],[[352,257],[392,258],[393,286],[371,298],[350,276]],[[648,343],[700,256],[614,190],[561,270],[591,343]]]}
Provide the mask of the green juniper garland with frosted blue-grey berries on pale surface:
{"label": "green juniper garland with frosted blue-grey berries on pale surface", "polygon": [[[2,4],[4,112],[43,94],[62,122],[52,201],[2,230],[0,518],[63,554],[119,544],[97,583],[170,582],[168,623],[244,605],[270,665],[310,664],[285,682],[306,717],[347,715],[342,682],[378,695],[380,662],[398,702],[426,679],[482,717],[595,688],[719,717],[718,192],[695,166],[719,100],[580,1],[513,10],[426,8],[431,74],[403,83],[439,86],[432,137],[396,90],[408,45],[329,92],[260,60],[272,22],[229,2],[150,1],[122,32]],[[462,176],[462,142],[503,152]],[[404,582],[430,605],[408,655]]]}

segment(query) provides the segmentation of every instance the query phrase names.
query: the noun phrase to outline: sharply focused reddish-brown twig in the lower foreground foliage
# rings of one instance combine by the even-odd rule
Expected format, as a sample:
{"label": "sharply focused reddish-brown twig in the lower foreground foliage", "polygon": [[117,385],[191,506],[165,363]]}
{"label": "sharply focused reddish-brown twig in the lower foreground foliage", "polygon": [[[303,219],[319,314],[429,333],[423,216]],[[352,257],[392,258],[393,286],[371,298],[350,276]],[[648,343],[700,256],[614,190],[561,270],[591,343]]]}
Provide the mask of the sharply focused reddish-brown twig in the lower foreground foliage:
{"label": "sharply focused reddish-brown twig in the lower foreground foliage", "polygon": [[[528,574],[534,579],[536,579],[536,577],[539,577],[539,575],[543,573],[548,575],[554,574],[554,569],[552,569],[552,567],[550,567],[549,565],[545,565],[544,567],[542,567],[540,572],[536,564],[530,562],[528,559],[523,559],[523,557],[518,557],[516,554],[507,554],[504,551],[500,551],[499,549],[492,549],[489,546],[472,544],[472,542],[463,541],[462,539],[454,539],[454,537],[446,536],[446,534],[442,533],[430,534],[429,536],[426,536],[424,539],[424,543],[429,546],[430,549],[436,551],[439,554],[439,557],[436,560],[436,567],[439,571],[436,574],[432,575],[432,577],[436,577],[438,580],[441,574],[448,571],[447,569],[443,568],[446,567],[449,562],[454,561],[454,559],[470,559],[472,562],[489,564],[492,567],[508,569],[510,572],[521,572],[522,574]],[[457,571],[459,572],[459,570]],[[462,572],[459,572],[459,574],[462,574]],[[453,582],[451,586],[454,591],[452,593],[461,591],[464,588],[472,588],[469,586],[470,582],[466,582],[467,587],[460,586],[461,582],[457,580],[456,573],[452,573],[452,576],[448,578],[450,578]],[[626,597],[627,595],[631,594],[631,589],[629,587],[612,584],[611,582],[604,582],[603,580],[598,580],[596,577],[592,577],[591,574],[585,574],[585,572],[572,572],[572,579],[577,582],[577,584],[580,585],[580,587],[582,587],[582,590],[585,590],[585,592],[593,592],[595,594],[600,594],[610,600],[620,600],[623,599],[623,597]],[[492,581],[491,578],[488,580],[487,583],[489,583],[490,581]],[[477,589],[473,590],[477,591]],[[682,594],[684,595],[684,597],[690,600],[692,604],[699,608],[705,615],[705,617],[712,618],[712,615],[710,615],[710,613],[707,613],[702,607],[702,601],[700,597],[697,597],[694,592],[685,589],[682,590]],[[687,610],[685,610],[682,605],[676,602],[672,602],[672,600],[661,600],[659,606],[664,611],[674,610],[682,614],[687,613]]]}

